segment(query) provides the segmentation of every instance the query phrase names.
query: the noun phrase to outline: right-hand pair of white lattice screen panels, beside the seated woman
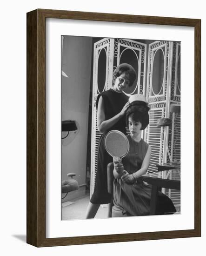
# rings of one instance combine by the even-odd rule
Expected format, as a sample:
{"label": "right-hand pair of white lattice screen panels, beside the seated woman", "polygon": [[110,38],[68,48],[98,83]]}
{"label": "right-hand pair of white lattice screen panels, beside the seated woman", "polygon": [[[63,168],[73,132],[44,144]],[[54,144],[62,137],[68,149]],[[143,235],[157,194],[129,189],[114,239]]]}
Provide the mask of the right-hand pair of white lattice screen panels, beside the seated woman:
{"label": "right-hand pair of white lattice screen panels, beside the seated woman", "polygon": [[[180,161],[180,113],[170,112],[171,104],[180,104],[179,42],[155,41],[149,45],[146,95],[152,123],[146,130],[147,141],[152,147],[148,171],[151,176],[180,180],[180,168],[156,172],[156,164]],[[173,123],[158,129],[155,125],[158,118],[171,118]],[[180,206],[180,191],[163,189],[163,192],[177,208]]]}

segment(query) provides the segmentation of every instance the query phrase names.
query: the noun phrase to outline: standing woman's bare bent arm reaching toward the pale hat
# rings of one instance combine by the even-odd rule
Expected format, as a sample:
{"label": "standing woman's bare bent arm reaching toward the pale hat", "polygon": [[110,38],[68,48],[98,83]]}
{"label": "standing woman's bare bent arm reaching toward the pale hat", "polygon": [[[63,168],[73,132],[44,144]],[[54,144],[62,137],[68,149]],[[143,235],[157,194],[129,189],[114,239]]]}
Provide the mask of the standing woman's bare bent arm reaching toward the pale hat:
{"label": "standing woman's bare bent arm reaching toward the pale hat", "polygon": [[117,115],[113,116],[108,120],[105,120],[104,101],[102,96],[100,96],[98,108],[97,108],[97,127],[99,131],[103,133],[109,128],[111,128],[117,121],[119,121],[122,118],[128,106],[129,106],[129,102],[126,102],[125,106],[122,108],[120,113],[118,113]]}

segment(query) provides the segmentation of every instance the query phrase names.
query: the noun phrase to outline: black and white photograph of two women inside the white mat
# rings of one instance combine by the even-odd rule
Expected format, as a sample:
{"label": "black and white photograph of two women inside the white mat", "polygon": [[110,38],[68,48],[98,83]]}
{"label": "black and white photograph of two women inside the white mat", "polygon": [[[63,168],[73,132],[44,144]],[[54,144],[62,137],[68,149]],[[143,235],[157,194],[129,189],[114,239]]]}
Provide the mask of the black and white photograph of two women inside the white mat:
{"label": "black and white photograph of two women inside the white mat", "polygon": [[61,219],[181,214],[181,42],[61,36]]}

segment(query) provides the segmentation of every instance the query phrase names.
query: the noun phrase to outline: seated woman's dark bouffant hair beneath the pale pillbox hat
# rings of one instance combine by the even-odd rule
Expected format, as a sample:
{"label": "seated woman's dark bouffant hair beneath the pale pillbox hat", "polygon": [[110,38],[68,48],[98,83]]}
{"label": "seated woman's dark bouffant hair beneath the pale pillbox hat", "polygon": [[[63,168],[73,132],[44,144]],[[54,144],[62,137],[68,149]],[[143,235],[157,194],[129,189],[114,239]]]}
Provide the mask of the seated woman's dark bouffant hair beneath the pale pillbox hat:
{"label": "seated woman's dark bouffant hair beneath the pale pillbox hat", "polygon": [[141,130],[144,130],[149,124],[149,109],[146,102],[133,101],[126,110],[126,126],[128,127],[128,119],[130,116],[133,121],[140,122],[142,125]]}

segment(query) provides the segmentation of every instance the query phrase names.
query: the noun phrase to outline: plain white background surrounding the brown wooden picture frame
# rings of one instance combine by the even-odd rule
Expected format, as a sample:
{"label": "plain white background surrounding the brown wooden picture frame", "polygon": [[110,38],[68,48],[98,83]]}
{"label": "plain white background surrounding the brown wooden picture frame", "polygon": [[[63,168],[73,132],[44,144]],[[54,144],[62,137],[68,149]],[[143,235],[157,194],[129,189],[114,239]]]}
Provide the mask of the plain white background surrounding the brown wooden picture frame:
{"label": "plain white background surrounding the brown wooden picture frame", "polygon": [[[35,248],[26,240],[26,13],[36,8],[202,19],[202,237]],[[206,244],[206,17],[204,1],[4,1],[0,15],[0,251],[2,255],[193,256]],[[204,100],[204,101],[203,101]],[[15,129],[10,125],[15,123]],[[10,188],[10,189],[9,189]],[[12,188],[12,189],[11,189]],[[68,230],[69,234],[69,230]]]}

